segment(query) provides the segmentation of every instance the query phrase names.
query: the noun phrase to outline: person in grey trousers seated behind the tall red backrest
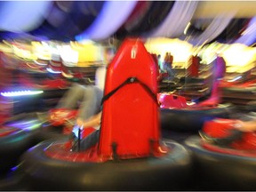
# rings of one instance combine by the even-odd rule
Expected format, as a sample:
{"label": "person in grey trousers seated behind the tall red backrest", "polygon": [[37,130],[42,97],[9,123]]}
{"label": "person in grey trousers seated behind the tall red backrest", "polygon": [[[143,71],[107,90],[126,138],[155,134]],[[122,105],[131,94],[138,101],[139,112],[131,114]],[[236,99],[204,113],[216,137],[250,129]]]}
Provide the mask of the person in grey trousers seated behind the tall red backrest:
{"label": "person in grey trousers seated behind the tall red backrest", "polygon": [[[52,124],[66,124],[66,128],[71,129],[74,140],[73,150],[77,150],[79,129],[83,130],[87,127],[95,129],[84,140],[81,140],[81,150],[90,148],[98,141],[106,71],[105,67],[96,70],[95,85],[72,84],[68,92],[60,99],[57,107],[50,113]],[[77,112],[73,113],[76,108],[78,108]],[[69,119],[72,116],[75,122]]]}

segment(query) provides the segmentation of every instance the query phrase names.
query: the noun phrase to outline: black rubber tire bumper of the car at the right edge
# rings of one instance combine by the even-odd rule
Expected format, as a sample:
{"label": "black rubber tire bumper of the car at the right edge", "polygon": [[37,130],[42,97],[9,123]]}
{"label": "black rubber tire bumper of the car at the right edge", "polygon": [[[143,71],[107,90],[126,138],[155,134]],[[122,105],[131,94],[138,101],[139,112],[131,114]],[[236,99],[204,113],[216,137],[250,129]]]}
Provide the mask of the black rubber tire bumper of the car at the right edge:
{"label": "black rubber tire bumper of the car at the right edge", "polygon": [[199,136],[185,145],[195,163],[195,178],[200,190],[255,190],[256,158],[222,154],[202,148]]}

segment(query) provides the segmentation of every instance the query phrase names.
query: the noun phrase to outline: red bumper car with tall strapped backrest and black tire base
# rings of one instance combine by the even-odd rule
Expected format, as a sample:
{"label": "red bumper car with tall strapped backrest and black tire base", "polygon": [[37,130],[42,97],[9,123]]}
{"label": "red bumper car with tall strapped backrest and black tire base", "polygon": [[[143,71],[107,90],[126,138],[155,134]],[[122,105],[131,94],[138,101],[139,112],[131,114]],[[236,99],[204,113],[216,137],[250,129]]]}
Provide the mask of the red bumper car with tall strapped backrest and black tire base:
{"label": "red bumper car with tall strapped backrest and black tire base", "polygon": [[160,140],[156,65],[144,45],[124,41],[106,78],[98,144],[72,151],[70,140],[42,142],[22,157],[23,181],[32,190],[186,188],[190,156]]}

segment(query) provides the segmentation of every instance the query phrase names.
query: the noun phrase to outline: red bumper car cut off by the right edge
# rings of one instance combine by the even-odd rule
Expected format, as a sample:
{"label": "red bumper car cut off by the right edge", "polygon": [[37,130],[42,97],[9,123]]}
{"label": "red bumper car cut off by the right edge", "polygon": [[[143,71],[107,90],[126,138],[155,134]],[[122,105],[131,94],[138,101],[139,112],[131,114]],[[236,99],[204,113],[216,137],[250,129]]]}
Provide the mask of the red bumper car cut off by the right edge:
{"label": "red bumper car cut off by the right edge", "polygon": [[201,182],[214,190],[255,190],[256,133],[235,129],[236,119],[214,119],[185,140]]}

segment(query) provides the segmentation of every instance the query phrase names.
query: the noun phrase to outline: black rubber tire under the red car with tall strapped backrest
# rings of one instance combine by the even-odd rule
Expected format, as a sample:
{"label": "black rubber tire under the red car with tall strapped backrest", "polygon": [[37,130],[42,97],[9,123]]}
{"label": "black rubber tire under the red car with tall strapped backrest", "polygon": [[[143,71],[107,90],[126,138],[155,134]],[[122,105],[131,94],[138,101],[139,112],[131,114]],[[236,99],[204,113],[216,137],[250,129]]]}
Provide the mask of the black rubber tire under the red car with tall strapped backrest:
{"label": "black rubber tire under the red car with tall strapped backrest", "polygon": [[29,190],[188,189],[192,171],[188,149],[172,140],[165,143],[172,152],[163,158],[76,163],[45,156],[44,148],[52,142],[44,141],[22,156],[18,171],[24,173],[22,183]]}

